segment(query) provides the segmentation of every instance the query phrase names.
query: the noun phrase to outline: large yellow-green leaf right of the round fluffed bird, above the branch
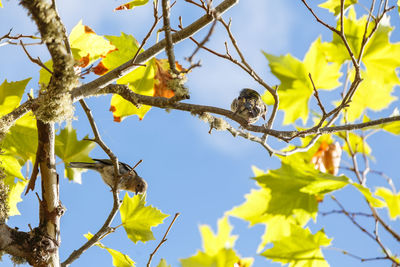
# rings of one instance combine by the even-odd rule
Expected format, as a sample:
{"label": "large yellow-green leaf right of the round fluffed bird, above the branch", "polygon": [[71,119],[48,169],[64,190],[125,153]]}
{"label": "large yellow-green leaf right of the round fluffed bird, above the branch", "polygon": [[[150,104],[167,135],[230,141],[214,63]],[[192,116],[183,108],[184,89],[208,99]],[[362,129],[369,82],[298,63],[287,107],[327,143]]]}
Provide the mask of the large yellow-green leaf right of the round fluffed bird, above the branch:
{"label": "large yellow-green leaf right of the round fluffed bird, above the branch", "polygon": [[[340,65],[328,64],[320,38],[310,46],[303,62],[290,54],[277,57],[263,53],[269,61],[272,74],[281,81],[278,95],[279,108],[285,112],[284,124],[293,123],[297,119],[302,119],[303,124],[307,122],[308,102],[313,95],[309,74],[317,89],[331,90],[340,85]],[[263,95],[263,100],[273,104],[268,92]]]}

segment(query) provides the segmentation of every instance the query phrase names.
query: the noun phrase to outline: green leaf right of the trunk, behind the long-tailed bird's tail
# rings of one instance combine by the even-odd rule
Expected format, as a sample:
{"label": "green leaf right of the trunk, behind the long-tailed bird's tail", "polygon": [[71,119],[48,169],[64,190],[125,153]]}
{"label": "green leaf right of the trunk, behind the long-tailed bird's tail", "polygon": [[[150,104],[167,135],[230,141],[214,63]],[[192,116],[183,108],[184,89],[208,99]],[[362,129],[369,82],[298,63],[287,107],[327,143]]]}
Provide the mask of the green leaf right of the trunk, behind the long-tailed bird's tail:
{"label": "green leaf right of the trunk, behind the long-tailed bird's tail", "polygon": [[[87,138],[86,136],[85,138]],[[56,135],[55,151],[56,155],[62,159],[65,166],[71,161],[91,162],[89,157],[90,151],[96,146],[94,142],[81,140],[79,141],[76,135],[76,130],[71,124],[60,131]],[[69,180],[81,183],[81,173],[86,169],[65,168],[64,175]]]}

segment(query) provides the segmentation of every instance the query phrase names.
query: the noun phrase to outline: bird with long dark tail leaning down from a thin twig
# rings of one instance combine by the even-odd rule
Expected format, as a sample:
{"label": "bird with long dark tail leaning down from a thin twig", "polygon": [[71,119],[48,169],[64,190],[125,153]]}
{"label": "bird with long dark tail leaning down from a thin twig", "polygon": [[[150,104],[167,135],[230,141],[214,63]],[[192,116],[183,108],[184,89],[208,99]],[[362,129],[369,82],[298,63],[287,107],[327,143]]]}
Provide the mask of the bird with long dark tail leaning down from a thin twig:
{"label": "bird with long dark tail leaning down from a thin twig", "polygon": [[[93,159],[95,162],[70,162],[70,168],[82,168],[95,170],[101,174],[103,181],[113,188],[115,186],[114,165],[110,159]],[[119,162],[119,172],[121,176],[118,189],[144,194],[147,190],[147,182],[140,177],[136,171],[126,163]]]}

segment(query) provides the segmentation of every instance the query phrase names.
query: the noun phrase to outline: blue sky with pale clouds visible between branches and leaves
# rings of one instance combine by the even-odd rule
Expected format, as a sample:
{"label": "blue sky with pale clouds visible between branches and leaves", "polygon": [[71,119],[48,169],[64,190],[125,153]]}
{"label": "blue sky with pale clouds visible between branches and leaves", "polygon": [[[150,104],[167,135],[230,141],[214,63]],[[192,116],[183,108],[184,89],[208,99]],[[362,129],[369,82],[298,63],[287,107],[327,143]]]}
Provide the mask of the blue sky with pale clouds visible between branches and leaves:
{"label": "blue sky with pale clouds visible between branches and leaves", "polygon": [[[4,8],[0,9],[0,35],[13,28],[14,33],[36,33],[36,26],[27,18],[25,10],[16,4],[16,1],[2,1]],[[316,2],[316,1],[309,1]],[[322,1],[318,1],[320,3]],[[367,1],[363,1],[367,2]],[[391,1],[394,2],[394,1]],[[146,35],[153,20],[151,5],[139,7],[133,11],[113,12],[113,9],[122,4],[122,1],[58,1],[58,9],[68,32],[79,22],[90,26],[99,35],[120,35],[121,32],[132,34],[141,41]],[[328,12],[319,10],[322,17],[334,24],[334,18]],[[176,27],[177,17],[183,17],[184,25],[188,25],[199,16],[202,11],[182,0],[178,0],[172,9],[171,24]],[[393,13],[394,15],[394,13]],[[302,59],[309,45],[318,37],[329,41],[331,33],[315,22],[304,8],[301,1],[292,0],[264,0],[241,1],[225,15],[232,17],[232,31],[242,48],[249,63],[271,85],[278,83],[268,68],[268,62],[261,54],[261,50],[274,55],[291,53]],[[392,25],[398,28],[399,20]],[[161,24],[159,25],[161,26]],[[201,39],[206,31],[198,33]],[[392,35],[392,41],[399,41],[398,29]],[[154,36],[153,36],[154,37]],[[152,38],[148,44],[154,42]],[[223,52],[223,42],[227,40],[222,27],[217,26],[207,46]],[[148,46],[147,46],[148,47]],[[190,41],[176,45],[176,59],[187,65],[184,57],[194,50]],[[43,61],[49,59],[44,48],[29,47],[33,56],[40,56]],[[8,81],[22,80],[33,77],[28,88],[37,90],[38,66],[31,63],[22,49],[16,46],[0,47],[0,82],[5,78]],[[159,55],[158,58],[165,58]],[[216,58],[207,52],[200,51],[197,59],[202,60],[202,67],[195,69],[188,75],[187,86],[191,93],[190,103],[215,105],[229,108],[230,103],[243,87],[251,87],[259,92],[262,89],[246,73],[223,59]],[[90,78],[87,78],[90,79]],[[82,82],[86,82],[83,80]],[[395,92],[399,96],[399,90]],[[333,97],[322,94],[326,103]],[[110,248],[120,250],[137,262],[137,266],[144,266],[149,254],[162,238],[175,212],[181,216],[174,224],[168,236],[168,241],[161,247],[153,259],[154,266],[161,257],[166,258],[172,266],[179,266],[179,258],[187,258],[201,249],[201,238],[198,231],[200,224],[209,224],[216,229],[218,218],[225,211],[244,201],[244,195],[252,188],[257,188],[252,176],[251,166],[255,165],[263,170],[279,168],[279,161],[270,158],[267,151],[256,143],[241,138],[233,138],[229,133],[216,132],[208,134],[208,125],[188,113],[153,108],[142,121],[137,117],[129,117],[122,123],[112,121],[112,114],[108,111],[110,96],[91,98],[87,101],[92,108],[94,117],[104,141],[116,153],[121,161],[131,165],[139,159],[143,163],[137,168],[139,174],[149,184],[147,202],[171,216],[165,224],[154,228],[157,240],[146,244],[134,245],[125,235],[123,229],[103,240]],[[399,106],[397,101],[391,108],[374,115],[385,116]],[[76,120],[73,126],[78,129],[78,136],[92,135],[89,124],[82,109],[77,105]],[[280,127],[282,113],[278,114],[277,127]],[[63,127],[63,125],[61,125]],[[398,137],[379,133],[370,140],[375,161],[373,168],[383,170],[395,180],[400,188],[398,151],[400,142]],[[280,147],[280,142],[272,142]],[[105,153],[96,148],[90,154],[94,158],[104,158]],[[349,159],[346,159],[349,162]],[[63,173],[63,165],[58,166]],[[95,172],[83,174],[82,184],[68,182],[61,179],[61,201],[67,212],[62,217],[62,247],[61,260],[85,242],[83,234],[88,231],[94,233],[103,224],[112,205],[112,196],[100,176]],[[383,185],[378,177],[371,177],[371,185]],[[347,204],[350,210],[364,210],[366,206],[362,198],[351,189],[338,192],[338,198]],[[327,211],[335,207],[329,200],[321,204],[321,210]],[[30,193],[19,204],[22,216],[10,218],[11,226],[18,226],[21,230],[28,230],[28,224],[37,225],[38,203],[34,194]],[[386,213],[382,213],[384,218]],[[239,235],[236,249],[242,256],[255,256],[256,248],[263,233],[262,227],[248,228],[247,223],[238,219],[230,219],[234,225],[234,234]],[[341,215],[318,217],[318,226],[310,225],[313,231],[322,226],[328,237],[334,237],[334,246],[343,248],[362,256],[375,256],[379,250],[375,244],[354,228]],[[399,229],[398,221],[395,225]],[[119,219],[114,226],[119,224]],[[372,227],[372,226],[371,226]],[[385,237],[384,232],[382,231]],[[391,239],[387,239],[389,247],[400,253],[400,247]],[[338,252],[324,250],[331,266],[389,266],[388,262],[360,263]],[[10,266],[8,257],[0,266]],[[379,265],[382,264],[382,265]],[[111,256],[100,248],[89,249],[72,266],[111,266]],[[255,267],[279,266],[260,256],[256,256]]]}

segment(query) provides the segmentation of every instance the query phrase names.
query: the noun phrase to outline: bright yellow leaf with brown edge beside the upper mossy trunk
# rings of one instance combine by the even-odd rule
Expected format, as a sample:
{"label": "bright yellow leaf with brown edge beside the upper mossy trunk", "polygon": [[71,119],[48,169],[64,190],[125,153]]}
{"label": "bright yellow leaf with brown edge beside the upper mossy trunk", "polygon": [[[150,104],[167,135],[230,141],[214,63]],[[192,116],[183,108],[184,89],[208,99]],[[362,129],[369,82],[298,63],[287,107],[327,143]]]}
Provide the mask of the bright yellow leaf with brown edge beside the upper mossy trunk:
{"label": "bright yellow leaf with brown edge beside the upper mossy trunk", "polygon": [[82,25],[82,21],[79,21],[72,29],[69,40],[75,60],[86,57],[85,61],[81,60],[84,66],[106,56],[108,52],[115,49],[103,36],[97,35],[88,26]]}

